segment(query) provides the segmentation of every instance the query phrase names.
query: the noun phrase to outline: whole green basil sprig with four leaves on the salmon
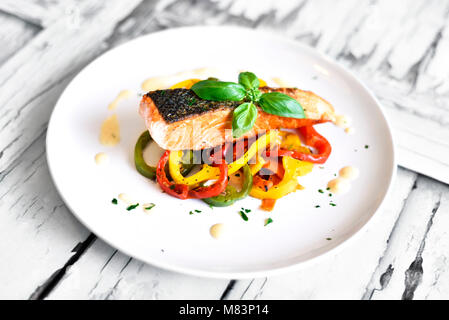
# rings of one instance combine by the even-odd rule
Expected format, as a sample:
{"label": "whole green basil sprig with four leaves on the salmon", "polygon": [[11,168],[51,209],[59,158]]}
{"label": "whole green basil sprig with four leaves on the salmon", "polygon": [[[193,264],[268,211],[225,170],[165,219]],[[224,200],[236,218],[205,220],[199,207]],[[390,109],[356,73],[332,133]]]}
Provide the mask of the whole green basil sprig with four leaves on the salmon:
{"label": "whole green basil sprig with four leaves on the salmon", "polygon": [[305,118],[304,109],[298,101],[280,92],[262,93],[260,81],[252,72],[241,72],[239,83],[204,80],[195,83],[192,90],[197,96],[213,101],[242,101],[234,110],[232,134],[241,137],[254,126],[257,119],[256,103],[266,113],[281,117]]}

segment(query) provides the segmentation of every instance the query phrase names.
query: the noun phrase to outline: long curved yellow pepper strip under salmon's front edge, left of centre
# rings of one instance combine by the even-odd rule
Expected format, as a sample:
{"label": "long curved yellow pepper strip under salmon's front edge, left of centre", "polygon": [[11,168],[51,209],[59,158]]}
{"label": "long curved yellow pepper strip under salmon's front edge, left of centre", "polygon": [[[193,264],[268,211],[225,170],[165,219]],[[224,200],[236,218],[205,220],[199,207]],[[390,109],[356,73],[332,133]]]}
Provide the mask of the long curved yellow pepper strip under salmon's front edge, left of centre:
{"label": "long curved yellow pepper strip under salmon's front edge, left of centre", "polygon": [[[267,132],[267,134],[257,139],[256,142],[254,142],[251,147],[249,147],[243,157],[228,165],[228,175],[232,175],[233,173],[237,172],[241,167],[248,163],[249,159],[265,150],[270,141],[274,140],[277,135],[278,131],[269,131]],[[179,169],[181,157],[182,151],[172,151],[170,152],[170,157],[168,160],[170,175],[178,184],[193,186],[202,181],[217,179],[220,175],[220,169],[205,164],[203,165],[203,168],[194,175],[190,177],[183,177]]]}

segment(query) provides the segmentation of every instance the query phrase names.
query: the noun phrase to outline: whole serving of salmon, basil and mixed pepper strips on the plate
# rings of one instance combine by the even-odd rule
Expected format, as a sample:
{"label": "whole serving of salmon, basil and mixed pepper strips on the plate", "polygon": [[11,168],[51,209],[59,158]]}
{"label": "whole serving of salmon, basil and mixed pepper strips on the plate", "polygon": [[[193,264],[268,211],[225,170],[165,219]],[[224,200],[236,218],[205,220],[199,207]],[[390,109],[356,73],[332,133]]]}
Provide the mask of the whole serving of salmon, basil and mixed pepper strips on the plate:
{"label": "whole serving of salmon, basil and mixed pepper strips on the plate", "polygon": [[[267,211],[327,161],[332,148],[313,126],[336,121],[316,94],[268,87],[251,72],[238,83],[187,79],[150,91],[139,112],[148,128],[134,150],[139,173],[179,199],[225,207],[250,195]],[[165,150],[156,167],[143,159],[151,140]]]}

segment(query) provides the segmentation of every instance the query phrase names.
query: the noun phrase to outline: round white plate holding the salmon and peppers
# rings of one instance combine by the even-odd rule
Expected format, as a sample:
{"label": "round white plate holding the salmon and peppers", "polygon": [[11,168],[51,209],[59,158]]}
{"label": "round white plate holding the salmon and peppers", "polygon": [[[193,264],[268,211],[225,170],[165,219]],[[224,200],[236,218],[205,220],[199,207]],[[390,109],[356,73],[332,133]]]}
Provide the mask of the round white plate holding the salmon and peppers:
{"label": "round white plate holding the salmon and peppers", "polygon": [[[239,70],[250,70],[268,82],[280,77],[292,86],[312,90],[330,101],[338,114],[350,116],[356,134],[348,135],[331,124],[317,126],[330,140],[332,155],[324,169],[316,166],[303,179],[306,190],[279,200],[271,213],[260,211],[260,200],[253,198],[214,209],[199,200],[174,199],[134,168],[134,144],[145,130],[137,113],[137,95],[122,101],[116,110],[122,136],[117,146],[102,146],[99,131],[103,120],[112,114],[107,106],[119,91],[141,92],[146,78],[202,67],[224,70],[231,81],[236,81]],[[110,156],[106,166],[94,162],[95,154],[101,151]],[[285,271],[339,246],[378,210],[395,172],[385,115],[354,76],[296,42],[232,27],[153,33],[96,59],[60,97],[48,128],[47,156],[65,203],[97,236],[159,267],[225,278]],[[360,169],[351,192],[332,198],[319,193],[318,189],[326,189],[334,173],[346,165]],[[128,212],[122,203],[112,205],[111,199],[122,192],[139,203],[154,202],[156,207],[147,214],[141,208]],[[329,205],[330,199],[336,207]],[[248,222],[238,214],[241,207],[252,209]],[[202,213],[189,215],[194,209]],[[264,227],[268,217],[274,222]],[[209,228],[218,222],[224,223],[228,232],[215,240]]]}

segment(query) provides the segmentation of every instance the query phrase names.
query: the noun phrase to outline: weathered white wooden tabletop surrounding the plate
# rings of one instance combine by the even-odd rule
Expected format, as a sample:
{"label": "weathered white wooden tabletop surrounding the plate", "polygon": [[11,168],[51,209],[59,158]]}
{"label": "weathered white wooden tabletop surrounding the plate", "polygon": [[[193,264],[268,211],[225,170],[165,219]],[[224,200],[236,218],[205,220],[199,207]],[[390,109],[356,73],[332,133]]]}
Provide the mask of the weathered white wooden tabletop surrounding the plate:
{"label": "weathered white wooden tabletop surrounding the plate", "polygon": [[[67,210],[45,159],[65,86],[105,50],[196,24],[287,35],[379,97],[400,168],[357,242],[295,273],[204,279],[117,252]],[[0,298],[449,298],[449,1],[1,0],[0,26]]]}

